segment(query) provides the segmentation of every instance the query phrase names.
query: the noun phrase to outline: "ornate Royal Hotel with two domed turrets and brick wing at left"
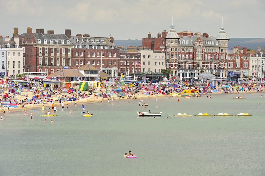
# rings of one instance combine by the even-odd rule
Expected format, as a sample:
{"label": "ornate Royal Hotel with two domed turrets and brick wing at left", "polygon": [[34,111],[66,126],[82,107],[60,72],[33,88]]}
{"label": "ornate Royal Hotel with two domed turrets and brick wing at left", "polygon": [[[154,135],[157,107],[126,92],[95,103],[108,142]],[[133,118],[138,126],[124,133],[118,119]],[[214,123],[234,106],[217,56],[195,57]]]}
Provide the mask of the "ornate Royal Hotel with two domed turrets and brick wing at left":
{"label": "ornate Royal Hotel with two domed turrets and brick wing at left", "polygon": [[163,30],[157,38],[149,33],[148,38],[143,38],[143,47],[165,52],[166,68],[171,69],[171,75],[192,78],[202,72],[216,72],[217,77],[223,78],[226,72],[220,69],[220,61],[227,60],[228,40],[223,26],[214,37],[192,31],[177,33],[171,25],[168,32]]}

